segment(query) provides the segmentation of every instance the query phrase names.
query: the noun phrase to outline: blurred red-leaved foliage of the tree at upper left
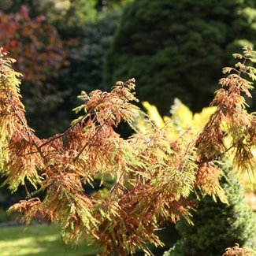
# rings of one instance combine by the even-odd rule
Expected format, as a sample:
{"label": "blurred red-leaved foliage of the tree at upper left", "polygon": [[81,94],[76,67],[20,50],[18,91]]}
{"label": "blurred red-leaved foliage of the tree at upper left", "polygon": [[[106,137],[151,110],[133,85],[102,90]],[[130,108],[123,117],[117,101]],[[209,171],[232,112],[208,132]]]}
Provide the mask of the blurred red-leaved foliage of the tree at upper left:
{"label": "blurred red-leaved foliage of the tree at upper left", "polygon": [[63,43],[54,26],[47,24],[43,14],[31,18],[27,6],[21,6],[17,13],[0,11],[0,41],[17,59],[24,81],[41,90],[65,61]]}

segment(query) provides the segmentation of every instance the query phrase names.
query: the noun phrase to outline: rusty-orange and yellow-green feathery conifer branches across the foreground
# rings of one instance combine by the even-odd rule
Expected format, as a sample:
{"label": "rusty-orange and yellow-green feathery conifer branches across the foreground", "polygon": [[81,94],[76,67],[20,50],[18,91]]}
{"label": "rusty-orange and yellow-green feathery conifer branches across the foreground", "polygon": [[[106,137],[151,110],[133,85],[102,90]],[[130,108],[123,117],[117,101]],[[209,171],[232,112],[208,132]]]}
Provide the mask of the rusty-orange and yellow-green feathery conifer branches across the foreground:
{"label": "rusty-orange and yellow-green feathery conifer branches across the foreground", "polygon": [[[235,55],[242,60],[235,68],[224,69],[229,74],[220,80],[222,88],[213,99],[217,109],[193,139],[186,132],[173,139],[150,120],[150,132],[136,131],[135,117],[146,115],[132,103],[138,101],[134,80],[117,82],[110,92],[82,92],[83,104],[75,109],[80,117],[70,128],[39,139],[20,102],[20,73],[5,55],[0,59],[1,173],[11,191],[28,181],[34,185],[26,200],[9,209],[21,213],[27,224],[35,216],[59,223],[67,241],[89,236],[102,245],[103,255],[134,254],[136,247],[150,254],[148,243],[162,245],[158,228],[181,216],[190,221],[195,209],[188,199],[191,192],[198,189],[225,202],[217,165],[224,154],[234,158],[240,172],[254,171],[256,120],[243,98],[252,89],[245,76],[256,79],[255,69],[247,65],[256,61],[249,48]],[[121,138],[115,130],[121,121],[135,135]],[[95,180],[103,189],[88,195],[84,185],[93,186]],[[38,191],[45,192],[42,201]]]}

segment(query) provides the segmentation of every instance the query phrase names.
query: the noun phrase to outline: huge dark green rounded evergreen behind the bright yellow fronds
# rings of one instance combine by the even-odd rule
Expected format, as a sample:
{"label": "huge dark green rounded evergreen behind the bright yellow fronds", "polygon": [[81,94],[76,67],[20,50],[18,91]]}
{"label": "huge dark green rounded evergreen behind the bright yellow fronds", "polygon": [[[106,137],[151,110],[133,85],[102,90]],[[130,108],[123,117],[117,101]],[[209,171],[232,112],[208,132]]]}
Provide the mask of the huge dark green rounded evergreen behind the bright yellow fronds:
{"label": "huge dark green rounded evergreen behind the bright yellow fronds", "polygon": [[105,82],[135,77],[138,97],[169,110],[180,98],[208,105],[221,67],[241,45],[256,45],[254,0],[137,0],[124,9],[109,49]]}

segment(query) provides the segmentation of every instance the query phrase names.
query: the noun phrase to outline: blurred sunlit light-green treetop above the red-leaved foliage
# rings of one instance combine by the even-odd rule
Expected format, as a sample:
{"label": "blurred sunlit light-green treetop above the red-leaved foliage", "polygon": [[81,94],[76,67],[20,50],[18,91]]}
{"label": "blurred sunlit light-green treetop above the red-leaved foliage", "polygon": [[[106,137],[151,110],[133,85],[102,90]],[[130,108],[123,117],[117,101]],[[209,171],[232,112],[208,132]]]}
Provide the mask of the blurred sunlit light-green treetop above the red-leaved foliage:
{"label": "blurred sunlit light-green treetop above the red-leaved foliage", "polygon": [[96,0],[1,0],[5,13],[17,13],[28,6],[32,18],[43,14],[58,29],[61,39],[76,38],[85,31],[85,24],[96,19]]}

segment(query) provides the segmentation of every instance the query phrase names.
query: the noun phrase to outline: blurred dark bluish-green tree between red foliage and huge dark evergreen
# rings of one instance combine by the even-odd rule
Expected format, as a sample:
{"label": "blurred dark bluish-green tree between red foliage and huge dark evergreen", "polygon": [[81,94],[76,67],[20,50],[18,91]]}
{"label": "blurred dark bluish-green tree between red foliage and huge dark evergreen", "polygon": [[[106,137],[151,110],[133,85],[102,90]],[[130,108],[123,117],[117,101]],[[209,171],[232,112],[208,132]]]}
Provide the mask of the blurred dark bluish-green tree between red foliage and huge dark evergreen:
{"label": "blurred dark bluish-green tree between red foliage and huge dark evergreen", "polygon": [[95,24],[87,25],[80,46],[70,50],[69,72],[66,73],[65,83],[70,91],[69,105],[72,108],[79,104],[76,95],[80,91],[93,91],[96,85],[98,89],[108,89],[102,78],[104,57],[120,17],[120,10],[102,13]]}

